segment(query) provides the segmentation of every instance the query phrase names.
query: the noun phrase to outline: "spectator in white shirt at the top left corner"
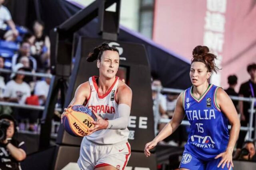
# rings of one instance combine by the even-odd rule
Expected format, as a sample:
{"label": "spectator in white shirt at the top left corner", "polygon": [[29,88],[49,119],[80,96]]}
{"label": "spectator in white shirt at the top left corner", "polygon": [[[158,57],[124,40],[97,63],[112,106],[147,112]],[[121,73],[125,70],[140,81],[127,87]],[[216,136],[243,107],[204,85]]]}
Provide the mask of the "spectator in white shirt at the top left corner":
{"label": "spectator in white shirt at the top left corner", "polygon": [[[0,39],[5,39],[6,41],[14,41],[18,37],[19,32],[12,21],[12,16],[10,11],[3,6],[4,0],[0,0]],[[10,26],[10,30],[6,30],[6,24]]]}

